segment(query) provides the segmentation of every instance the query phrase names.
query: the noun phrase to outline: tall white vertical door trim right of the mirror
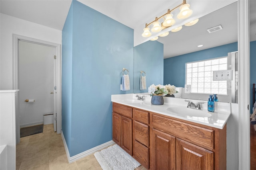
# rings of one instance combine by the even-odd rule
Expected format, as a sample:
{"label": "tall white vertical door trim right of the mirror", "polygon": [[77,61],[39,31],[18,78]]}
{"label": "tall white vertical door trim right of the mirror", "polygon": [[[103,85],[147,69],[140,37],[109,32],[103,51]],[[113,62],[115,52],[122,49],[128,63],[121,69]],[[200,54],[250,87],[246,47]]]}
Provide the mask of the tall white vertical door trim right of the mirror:
{"label": "tall white vertical door trim right of the mirror", "polygon": [[238,0],[238,170],[250,170],[249,1]]}

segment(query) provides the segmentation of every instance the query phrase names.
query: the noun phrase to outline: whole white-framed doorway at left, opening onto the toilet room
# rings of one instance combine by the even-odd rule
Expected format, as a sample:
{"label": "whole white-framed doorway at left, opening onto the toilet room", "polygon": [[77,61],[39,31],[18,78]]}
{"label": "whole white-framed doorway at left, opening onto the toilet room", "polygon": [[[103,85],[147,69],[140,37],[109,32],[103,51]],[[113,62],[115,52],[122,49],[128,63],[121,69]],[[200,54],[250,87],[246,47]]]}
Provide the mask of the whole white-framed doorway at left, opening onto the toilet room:
{"label": "whole white-framed doorway at left, opening onto the toilet room", "polygon": [[61,133],[60,45],[20,35],[13,35],[13,43],[13,89],[22,89],[16,99],[16,143],[20,142],[20,126],[42,123],[45,113],[53,113],[56,131]]}

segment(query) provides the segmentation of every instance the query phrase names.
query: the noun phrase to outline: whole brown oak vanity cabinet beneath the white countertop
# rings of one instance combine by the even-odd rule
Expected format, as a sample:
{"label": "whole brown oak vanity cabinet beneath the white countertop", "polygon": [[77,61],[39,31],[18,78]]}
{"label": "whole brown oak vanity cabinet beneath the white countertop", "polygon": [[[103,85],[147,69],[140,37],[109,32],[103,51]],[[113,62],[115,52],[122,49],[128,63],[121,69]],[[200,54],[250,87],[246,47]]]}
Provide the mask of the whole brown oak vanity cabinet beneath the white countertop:
{"label": "whole brown oak vanity cabinet beneath the white countertop", "polygon": [[226,170],[223,129],[113,103],[113,141],[150,170]]}

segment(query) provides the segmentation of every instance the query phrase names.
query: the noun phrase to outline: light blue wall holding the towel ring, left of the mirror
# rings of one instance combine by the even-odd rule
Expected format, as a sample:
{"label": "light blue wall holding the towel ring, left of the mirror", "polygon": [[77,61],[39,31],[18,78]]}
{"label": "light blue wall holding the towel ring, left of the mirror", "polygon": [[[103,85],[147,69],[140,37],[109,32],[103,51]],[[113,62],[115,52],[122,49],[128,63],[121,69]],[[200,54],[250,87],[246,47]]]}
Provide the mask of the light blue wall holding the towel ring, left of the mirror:
{"label": "light blue wall holding the towel ring, left of the mirror", "polygon": [[[63,31],[62,131],[74,156],[112,140],[111,95],[133,93],[134,30],[72,1]],[[125,92],[122,68],[130,71]]]}

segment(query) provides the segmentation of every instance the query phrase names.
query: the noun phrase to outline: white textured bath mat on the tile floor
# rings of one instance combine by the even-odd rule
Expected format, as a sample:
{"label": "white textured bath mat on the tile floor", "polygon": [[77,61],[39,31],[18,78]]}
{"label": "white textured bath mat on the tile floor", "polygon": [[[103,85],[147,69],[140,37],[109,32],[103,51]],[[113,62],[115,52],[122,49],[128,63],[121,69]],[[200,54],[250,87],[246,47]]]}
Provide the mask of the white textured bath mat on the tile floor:
{"label": "white textured bath mat on the tile floor", "polygon": [[140,163],[118,145],[94,153],[103,170],[134,170]]}

